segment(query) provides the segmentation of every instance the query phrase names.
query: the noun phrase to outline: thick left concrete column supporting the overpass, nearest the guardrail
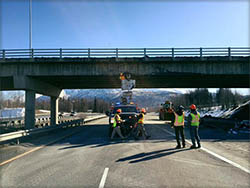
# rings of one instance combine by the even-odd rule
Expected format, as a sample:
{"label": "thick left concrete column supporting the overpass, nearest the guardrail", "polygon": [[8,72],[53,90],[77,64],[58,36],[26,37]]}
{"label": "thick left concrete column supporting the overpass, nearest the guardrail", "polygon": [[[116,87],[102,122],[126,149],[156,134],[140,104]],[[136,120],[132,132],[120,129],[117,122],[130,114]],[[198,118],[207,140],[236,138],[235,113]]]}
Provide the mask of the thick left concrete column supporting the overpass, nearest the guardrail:
{"label": "thick left concrete column supporting the overpass, nearest the guardrail", "polygon": [[25,90],[25,129],[35,128],[36,92]]}

